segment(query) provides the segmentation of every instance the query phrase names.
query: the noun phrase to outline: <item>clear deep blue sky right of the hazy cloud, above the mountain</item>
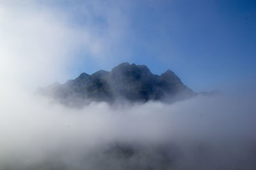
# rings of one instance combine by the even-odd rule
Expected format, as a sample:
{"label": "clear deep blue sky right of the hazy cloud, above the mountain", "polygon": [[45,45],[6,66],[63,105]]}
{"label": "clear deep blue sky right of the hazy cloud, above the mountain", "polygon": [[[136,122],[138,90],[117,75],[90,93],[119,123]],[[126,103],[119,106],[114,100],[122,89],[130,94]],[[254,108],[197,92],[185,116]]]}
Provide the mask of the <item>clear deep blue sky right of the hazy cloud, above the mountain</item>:
{"label": "clear deep blue sky right of the hazy cloud, above the mountain", "polygon": [[[172,69],[195,90],[255,78],[256,1],[132,1],[122,11],[129,23],[113,50],[115,60],[106,66],[86,60],[81,71],[109,70],[128,61],[146,64],[156,74]],[[77,24],[86,22],[73,12]],[[103,29],[108,24],[104,18],[95,22]]]}

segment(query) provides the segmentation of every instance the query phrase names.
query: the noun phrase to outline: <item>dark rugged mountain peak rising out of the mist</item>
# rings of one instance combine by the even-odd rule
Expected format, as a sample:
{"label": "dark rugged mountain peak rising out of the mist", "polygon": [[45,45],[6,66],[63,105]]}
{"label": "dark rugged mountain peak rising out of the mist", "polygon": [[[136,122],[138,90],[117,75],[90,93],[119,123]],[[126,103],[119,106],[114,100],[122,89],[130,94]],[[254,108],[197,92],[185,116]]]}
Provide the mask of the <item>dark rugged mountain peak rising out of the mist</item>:
{"label": "dark rugged mountain peak rising out of the mist", "polygon": [[92,101],[173,102],[196,95],[170,69],[156,75],[145,65],[128,62],[113,67],[110,72],[100,70],[92,75],[81,73],[74,80],[39,88],[38,92],[54,97],[63,104],[77,106]]}

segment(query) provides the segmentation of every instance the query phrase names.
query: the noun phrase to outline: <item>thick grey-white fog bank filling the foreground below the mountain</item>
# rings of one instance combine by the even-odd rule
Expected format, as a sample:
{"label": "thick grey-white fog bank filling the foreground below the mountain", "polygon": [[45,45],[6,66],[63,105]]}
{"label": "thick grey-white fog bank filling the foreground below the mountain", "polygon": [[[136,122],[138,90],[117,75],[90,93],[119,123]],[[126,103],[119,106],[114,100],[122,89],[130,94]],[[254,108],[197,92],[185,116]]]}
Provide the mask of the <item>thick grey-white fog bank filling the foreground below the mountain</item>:
{"label": "thick grey-white fog bank filling the foreground below the mountain", "polygon": [[256,167],[248,97],[74,109],[19,94],[1,103],[0,169]]}

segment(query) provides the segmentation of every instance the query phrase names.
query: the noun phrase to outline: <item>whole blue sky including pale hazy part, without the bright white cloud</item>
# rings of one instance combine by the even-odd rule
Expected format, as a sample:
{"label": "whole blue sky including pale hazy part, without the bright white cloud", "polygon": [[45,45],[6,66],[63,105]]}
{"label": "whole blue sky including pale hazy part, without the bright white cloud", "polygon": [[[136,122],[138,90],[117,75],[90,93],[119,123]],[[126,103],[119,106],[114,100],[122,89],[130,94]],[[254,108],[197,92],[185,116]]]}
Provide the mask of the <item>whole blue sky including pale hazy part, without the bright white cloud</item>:
{"label": "whole blue sky including pale hazy part, without the bright white cloud", "polygon": [[[68,48],[65,55],[69,57],[65,64],[68,76],[62,80],[55,76],[58,81],[75,78],[82,72],[110,71],[120,62],[146,64],[155,74],[172,69],[195,91],[221,89],[256,78],[256,1],[0,1],[0,4],[22,9],[27,17],[35,13],[47,16],[44,22],[51,19],[47,25],[50,30],[52,23],[60,25],[55,24],[60,21],[58,27],[68,30],[63,32],[70,35],[67,38],[61,39],[62,34],[54,36],[54,32],[49,37],[53,41],[61,39],[61,43],[76,42],[58,46]],[[41,32],[47,35],[44,31]]]}

